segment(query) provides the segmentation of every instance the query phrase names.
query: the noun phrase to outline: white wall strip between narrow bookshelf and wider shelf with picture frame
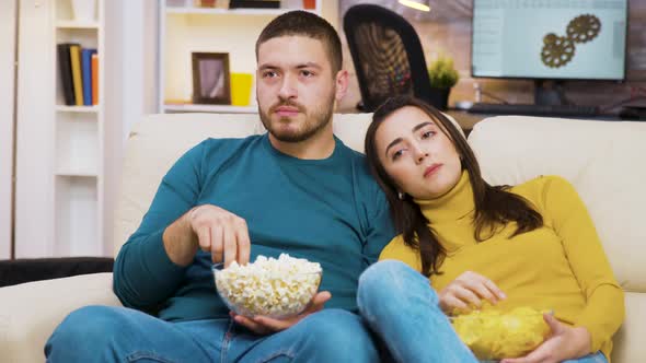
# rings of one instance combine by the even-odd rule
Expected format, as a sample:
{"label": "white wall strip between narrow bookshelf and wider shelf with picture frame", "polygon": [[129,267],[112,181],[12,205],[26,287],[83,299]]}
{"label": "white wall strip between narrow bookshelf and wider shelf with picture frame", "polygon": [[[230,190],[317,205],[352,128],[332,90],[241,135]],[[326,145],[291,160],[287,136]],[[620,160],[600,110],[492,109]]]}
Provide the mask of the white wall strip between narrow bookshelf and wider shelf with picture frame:
{"label": "white wall strip between narrow bookshelf and wider shelf with picture frame", "polygon": [[[113,255],[114,211],[126,139],[132,125],[157,110],[157,0],[105,1],[105,248]],[[123,244],[123,241],[119,245]]]}

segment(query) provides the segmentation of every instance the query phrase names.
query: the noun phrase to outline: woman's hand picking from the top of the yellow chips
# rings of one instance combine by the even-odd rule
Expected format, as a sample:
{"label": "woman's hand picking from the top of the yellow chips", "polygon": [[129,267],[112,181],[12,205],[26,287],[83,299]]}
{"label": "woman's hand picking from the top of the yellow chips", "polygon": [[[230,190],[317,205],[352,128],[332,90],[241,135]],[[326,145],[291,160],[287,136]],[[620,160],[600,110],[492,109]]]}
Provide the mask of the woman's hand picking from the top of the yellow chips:
{"label": "woman's hand picking from the top of the yellow chips", "polygon": [[507,298],[505,293],[482,274],[466,271],[439,292],[440,308],[451,315],[454,311],[470,311],[482,306],[482,300],[492,304]]}

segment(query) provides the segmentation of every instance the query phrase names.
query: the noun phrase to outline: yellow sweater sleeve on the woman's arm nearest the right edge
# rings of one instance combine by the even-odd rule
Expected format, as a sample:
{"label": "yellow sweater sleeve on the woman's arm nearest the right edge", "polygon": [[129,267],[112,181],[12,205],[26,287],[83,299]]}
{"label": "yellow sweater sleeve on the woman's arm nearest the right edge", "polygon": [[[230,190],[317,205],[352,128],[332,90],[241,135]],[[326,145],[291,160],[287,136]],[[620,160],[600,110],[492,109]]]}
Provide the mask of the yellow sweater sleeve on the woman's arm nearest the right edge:
{"label": "yellow sweater sleeve on the woman's arm nearest the right edge", "polygon": [[624,319],[624,294],[616,282],[586,206],[565,179],[550,177],[544,189],[549,218],[561,237],[587,304],[574,325],[591,335],[591,352],[610,340]]}

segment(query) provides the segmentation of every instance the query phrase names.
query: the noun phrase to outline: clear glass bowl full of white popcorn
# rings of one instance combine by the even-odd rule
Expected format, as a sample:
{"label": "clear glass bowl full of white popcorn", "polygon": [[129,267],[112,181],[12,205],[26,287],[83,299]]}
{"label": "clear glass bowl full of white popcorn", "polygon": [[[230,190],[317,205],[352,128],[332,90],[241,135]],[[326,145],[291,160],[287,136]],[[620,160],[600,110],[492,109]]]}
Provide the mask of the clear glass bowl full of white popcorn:
{"label": "clear glass bowl full of white popcorn", "polygon": [[253,264],[212,267],[216,290],[238,315],[284,319],[302,313],[319,291],[321,265],[281,254]]}

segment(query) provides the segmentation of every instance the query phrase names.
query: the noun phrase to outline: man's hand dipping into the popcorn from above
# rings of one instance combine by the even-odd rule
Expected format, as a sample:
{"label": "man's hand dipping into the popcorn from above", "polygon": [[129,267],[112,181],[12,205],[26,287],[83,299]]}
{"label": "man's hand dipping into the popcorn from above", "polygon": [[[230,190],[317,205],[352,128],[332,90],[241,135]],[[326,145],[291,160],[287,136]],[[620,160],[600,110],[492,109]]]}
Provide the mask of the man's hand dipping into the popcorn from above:
{"label": "man's hand dipping into the popcorn from above", "polygon": [[196,207],[186,216],[199,248],[210,253],[214,262],[249,262],[251,242],[242,218],[212,204]]}

